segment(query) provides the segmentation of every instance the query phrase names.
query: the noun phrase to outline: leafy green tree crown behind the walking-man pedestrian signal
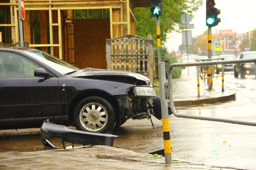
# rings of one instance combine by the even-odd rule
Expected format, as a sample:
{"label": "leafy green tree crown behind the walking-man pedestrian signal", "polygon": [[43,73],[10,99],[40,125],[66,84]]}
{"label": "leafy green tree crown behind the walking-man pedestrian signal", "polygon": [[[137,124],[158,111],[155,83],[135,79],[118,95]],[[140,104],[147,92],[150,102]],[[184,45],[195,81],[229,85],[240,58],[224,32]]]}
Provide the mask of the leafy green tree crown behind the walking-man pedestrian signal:
{"label": "leafy green tree crown behind the walking-man pedestrian signal", "polygon": [[[181,24],[181,15],[191,14],[202,5],[202,0],[162,0],[162,14],[160,16],[161,41],[165,42],[170,32],[179,30],[175,26]],[[150,7],[135,8],[136,32],[140,37],[151,35],[156,46],[156,17],[151,17]]]}

